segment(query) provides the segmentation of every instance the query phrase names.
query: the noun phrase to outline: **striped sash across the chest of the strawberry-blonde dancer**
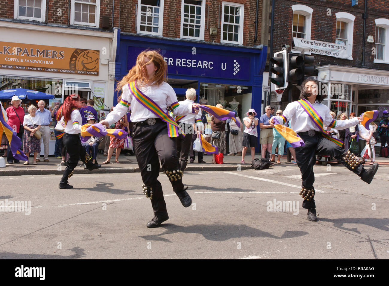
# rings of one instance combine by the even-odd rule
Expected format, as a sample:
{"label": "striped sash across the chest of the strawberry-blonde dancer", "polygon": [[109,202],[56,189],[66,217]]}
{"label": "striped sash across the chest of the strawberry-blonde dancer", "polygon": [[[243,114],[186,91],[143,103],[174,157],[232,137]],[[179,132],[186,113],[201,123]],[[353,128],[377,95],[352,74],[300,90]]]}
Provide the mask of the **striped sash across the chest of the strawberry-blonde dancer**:
{"label": "striped sash across the chest of the strawberry-blonde dancer", "polygon": [[[174,119],[168,115],[168,112],[163,111],[161,107],[159,107],[159,105],[154,102],[154,100],[142,93],[135,81],[130,82],[128,84],[128,87],[130,88],[130,91],[134,98],[138,100],[140,104],[142,104],[146,109],[158,116],[158,118],[162,119],[162,121],[165,121],[167,123],[169,137],[178,137],[179,130],[182,136],[185,136],[185,133],[178,126],[177,122],[175,122]],[[175,102],[171,105],[172,109],[177,108],[177,106],[179,106],[178,102]]]}

